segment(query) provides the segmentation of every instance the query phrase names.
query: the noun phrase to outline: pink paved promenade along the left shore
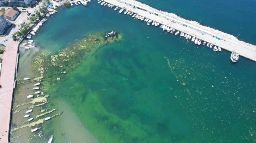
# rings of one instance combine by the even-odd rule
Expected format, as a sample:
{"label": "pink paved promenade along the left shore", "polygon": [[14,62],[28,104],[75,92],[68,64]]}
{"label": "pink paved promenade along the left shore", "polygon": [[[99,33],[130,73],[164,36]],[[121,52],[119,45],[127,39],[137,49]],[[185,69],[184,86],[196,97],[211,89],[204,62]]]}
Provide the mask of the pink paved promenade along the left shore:
{"label": "pink paved promenade along the left shore", "polygon": [[19,42],[12,41],[5,47],[0,76],[0,143],[8,143],[13,83]]}

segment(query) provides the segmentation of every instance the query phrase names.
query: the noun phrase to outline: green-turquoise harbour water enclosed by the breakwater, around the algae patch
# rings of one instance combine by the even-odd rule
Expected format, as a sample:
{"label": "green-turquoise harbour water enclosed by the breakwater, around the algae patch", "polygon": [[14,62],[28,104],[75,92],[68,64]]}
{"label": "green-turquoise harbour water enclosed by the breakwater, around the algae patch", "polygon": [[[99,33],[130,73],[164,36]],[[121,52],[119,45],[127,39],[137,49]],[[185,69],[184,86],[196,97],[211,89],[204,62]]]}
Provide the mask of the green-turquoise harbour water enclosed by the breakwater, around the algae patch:
{"label": "green-turquoise harbour water enclosed by the breakwater, around the algae patch", "polygon": [[256,142],[255,62],[233,64],[225,50],[214,53],[96,2],[58,11],[33,39],[52,53],[93,32],[123,34],[44,91],[49,105],[68,102],[99,142]]}

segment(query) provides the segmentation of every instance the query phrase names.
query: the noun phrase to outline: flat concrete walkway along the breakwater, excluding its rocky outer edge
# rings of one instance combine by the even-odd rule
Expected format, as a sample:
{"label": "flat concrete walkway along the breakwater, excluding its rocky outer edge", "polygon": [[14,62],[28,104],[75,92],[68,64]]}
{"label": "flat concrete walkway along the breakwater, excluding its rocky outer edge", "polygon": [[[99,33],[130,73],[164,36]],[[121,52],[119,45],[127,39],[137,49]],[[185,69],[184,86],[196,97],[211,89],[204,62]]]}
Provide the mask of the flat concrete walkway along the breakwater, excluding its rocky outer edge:
{"label": "flat concrete walkway along the breakwater, excluding its rocky outer edge", "polygon": [[[248,45],[242,45],[241,43],[238,43],[236,41],[233,41],[233,40],[227,39],[227,38],[222,38],[223,40],[217,40],[216,38],[213,38],[212,36],[210,36],[208,34],[203,34],[203,33],[199,32],[197,30],[182,26],[178,23],[171,22],[171,21],[169,21],[169,20],[167,20],[163,17],[151,14],[151,13],[143,11],[141,9],[133,8],[132,5],[135,5],[135,4],[133,4],[132,2],[129,2],[129,5],[126,5],[126,4],[121,3],[117,0],[104,0],[104,1],[107,2],[107,3],[110,3],[112,5],[118,6],[120,8],[127,9],[128,11],[134,12],[134,13],[140,15],[140,16],[144,16],[145,18],[151,19],[153,21],[157,21],[160,24],[163,24],[163,25],[166,25],[168,27],[174,28],[174,29],[176,29],[180,32],[189,34],[192,37],[195,36],[196,38],[199,38],[202,41],[212,43],[213,45],[219,46],[219,47],[221,47],[225,50],[228,50],[230,52],[235,50],[241,56],[244,56],[244,57],[246,57],[246,58],[248,58],[252,61],[256,61],[256,49],[253,48],[253,47],[250,47]],[[117,12],[119,10],[120,9],[118,9]],[[176,21],[178,21],[178,20],[176,20]],[[161,30],[161,29],[159,29],[159,30]],[[163,33],[166,33],[166,31],[163,32]],[[217,34],[214,34],[214,36],[221,37],[220,35],[217,35]]]}

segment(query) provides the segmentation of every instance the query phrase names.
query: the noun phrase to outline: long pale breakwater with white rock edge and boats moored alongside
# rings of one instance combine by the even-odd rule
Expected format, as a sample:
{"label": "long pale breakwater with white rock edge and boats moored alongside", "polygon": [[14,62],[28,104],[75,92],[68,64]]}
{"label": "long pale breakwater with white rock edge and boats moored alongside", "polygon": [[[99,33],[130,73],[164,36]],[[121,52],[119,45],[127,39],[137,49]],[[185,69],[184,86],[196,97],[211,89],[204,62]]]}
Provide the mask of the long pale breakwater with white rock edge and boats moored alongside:
{"label": "long pale breakwater with white rock edge and boats moored alongside", "polygon": [[[150,6],[147,6],[134,0],[130,0],[131,2],[126,0],[104,1],[112,5],[118,6],[120,8],[127,9],[128,11],[134,12],[138,15],[144,16],[145,18],[156,21],[162,25],[174,28],[180,32],[187,33],[191,36],[195,36],[196,38],[212,43],[213,45],[219,46],[230,52],[235,50],[241,56],[256,61],[256,46],[243,41],[239,41],[232,35],[220,32],[219,30],[215,30],[209,27],[201,26],[199,24],[196,25],[196,23],[198,22],[195,21],[189,21],[189,23],[186,23],[188,20],[175,16],[175,14],[170,14],[172,17],[169,15],[165,15],[166,12],[161,12],[157,9],[154,9]],[[175,19],[173,17],[177,17],[178,19]],[[183,21],[181,21],[180,19],[182,19]],[[194,25],[196,26],[191,25],[190,23],[194,23]],[[200,27],[204,27],[204,29],[197,27],[198,25]],[[218,39],[216,39],[217,37]]]}

